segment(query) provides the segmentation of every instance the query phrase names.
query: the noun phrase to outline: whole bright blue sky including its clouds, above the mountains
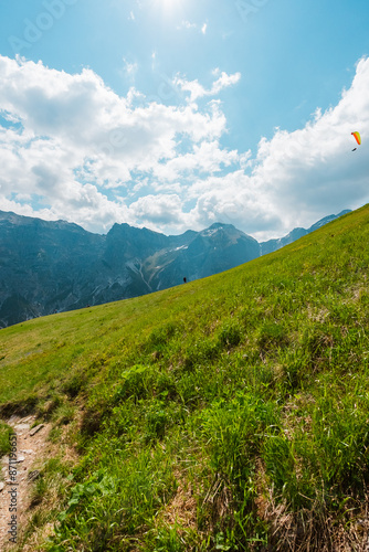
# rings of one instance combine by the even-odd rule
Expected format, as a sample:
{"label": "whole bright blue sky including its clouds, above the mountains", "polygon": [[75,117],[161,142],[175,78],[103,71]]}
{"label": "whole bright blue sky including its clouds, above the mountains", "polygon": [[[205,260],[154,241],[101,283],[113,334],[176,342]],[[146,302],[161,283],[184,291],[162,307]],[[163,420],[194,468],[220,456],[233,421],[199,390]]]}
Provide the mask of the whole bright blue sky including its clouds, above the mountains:
{"label": "whole bright blue sky including its clouds, above the mountains", "polygon": [[0,210],[264,241],[357,209],[368,29],[368,0],[2,0]]}

